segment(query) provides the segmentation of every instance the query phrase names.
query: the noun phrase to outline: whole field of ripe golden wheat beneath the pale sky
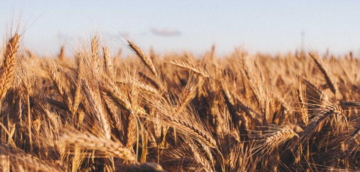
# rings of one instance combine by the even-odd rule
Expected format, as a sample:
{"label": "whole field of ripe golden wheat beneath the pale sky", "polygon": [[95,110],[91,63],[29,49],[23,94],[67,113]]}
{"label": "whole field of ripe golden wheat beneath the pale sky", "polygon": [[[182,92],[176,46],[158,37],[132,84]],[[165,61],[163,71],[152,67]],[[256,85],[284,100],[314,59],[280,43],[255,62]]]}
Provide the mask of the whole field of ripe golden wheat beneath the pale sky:
{"label": "whole field of ripe golden wheat beneath the pale sky", "polygon": [[[215,46],[113,56],[93,35],[38,57],[1,49],[2,171],[360,170],[360,61]],[[355,56],[355,57],[353,57]]]}

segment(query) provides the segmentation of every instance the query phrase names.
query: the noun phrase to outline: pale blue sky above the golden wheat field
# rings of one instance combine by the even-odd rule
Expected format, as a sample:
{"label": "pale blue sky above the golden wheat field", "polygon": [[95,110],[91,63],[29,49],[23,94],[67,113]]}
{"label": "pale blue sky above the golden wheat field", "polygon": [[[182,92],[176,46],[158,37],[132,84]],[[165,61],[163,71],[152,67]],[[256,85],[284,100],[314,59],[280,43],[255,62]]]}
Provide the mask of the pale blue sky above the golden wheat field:
{"label": "pale blue sky above the golden wheat field", "polygon": [[[3,0],[4,1],[4,0]],[[140,47],[159,53],[204,53],[215,44],[225,55],[240,47],[256,53],[294,52],[301,46],[320,53],[360,50],[358,1],[9,1],[0,7],[0,33],[6,20],[22,13],[24,46],[39,55],[57,54],[64,42],[98,30],[113,52],[127,33]],[[162,34],[164,33],[164,34]]]}

